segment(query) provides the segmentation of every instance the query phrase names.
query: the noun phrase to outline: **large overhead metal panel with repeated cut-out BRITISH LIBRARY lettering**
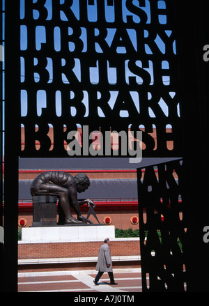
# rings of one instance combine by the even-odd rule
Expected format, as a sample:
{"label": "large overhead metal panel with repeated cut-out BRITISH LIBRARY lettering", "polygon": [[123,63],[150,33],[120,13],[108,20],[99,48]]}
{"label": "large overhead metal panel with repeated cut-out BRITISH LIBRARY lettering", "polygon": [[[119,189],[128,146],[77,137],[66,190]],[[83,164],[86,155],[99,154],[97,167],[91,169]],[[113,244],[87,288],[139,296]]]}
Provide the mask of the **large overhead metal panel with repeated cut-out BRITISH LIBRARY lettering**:
{"label": "large overhead metal panel with repeated cut-out BRITISH LIBRARY lettering", "polygon": [[173,1],[25,1],[15,52],[20,155],[69,157],[68,133],[80,127],[80,156],[91,155],[91,132],[128,128],[142,131],[144,157],[181,156],[175,27]]}

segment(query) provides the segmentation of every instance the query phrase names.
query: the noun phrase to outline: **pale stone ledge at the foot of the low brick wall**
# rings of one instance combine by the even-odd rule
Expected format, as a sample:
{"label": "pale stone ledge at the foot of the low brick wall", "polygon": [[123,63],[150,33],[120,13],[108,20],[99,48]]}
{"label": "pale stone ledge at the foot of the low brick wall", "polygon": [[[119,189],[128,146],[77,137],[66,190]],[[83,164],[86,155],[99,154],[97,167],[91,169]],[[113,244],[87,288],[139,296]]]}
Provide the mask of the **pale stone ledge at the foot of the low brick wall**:
{"label": "pale stone ledge at the foot of the low brick wall", "polygon": [[[112,261],[140,261],[139,255],[135,256],[112,256]],[[79,262],[97,262],[98,257],[70,257],[70,258],[43,258],[43,259],[18,259],[19,265],[31,265],[41,263],[79,263]]]}

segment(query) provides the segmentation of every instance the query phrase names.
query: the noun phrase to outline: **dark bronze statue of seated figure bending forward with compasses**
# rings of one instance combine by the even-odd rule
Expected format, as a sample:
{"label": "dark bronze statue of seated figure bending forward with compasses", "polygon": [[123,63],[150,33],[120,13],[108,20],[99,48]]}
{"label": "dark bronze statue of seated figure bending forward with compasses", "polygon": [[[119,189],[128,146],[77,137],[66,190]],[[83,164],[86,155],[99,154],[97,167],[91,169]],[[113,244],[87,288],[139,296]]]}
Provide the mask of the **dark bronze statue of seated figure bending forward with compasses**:
{"label": "dark bronze statue of seated figure bending forward with compasses", "polygon": [[[92,223],[81,214],[80,206],[88,204],[88,208],[91,205],[95,208],[95,204],[90,199],[77,200],[77,192],[84,192],[89,185],[89,178],[84,173],[73,177],[64,171],[45,171],[34,178],[31,184],[31,195],[55,194],[59,198],[59,223]],[[72,216],[70,207],[77,214],[77,219]],[[62,217],[63,221],[60,222]]]}

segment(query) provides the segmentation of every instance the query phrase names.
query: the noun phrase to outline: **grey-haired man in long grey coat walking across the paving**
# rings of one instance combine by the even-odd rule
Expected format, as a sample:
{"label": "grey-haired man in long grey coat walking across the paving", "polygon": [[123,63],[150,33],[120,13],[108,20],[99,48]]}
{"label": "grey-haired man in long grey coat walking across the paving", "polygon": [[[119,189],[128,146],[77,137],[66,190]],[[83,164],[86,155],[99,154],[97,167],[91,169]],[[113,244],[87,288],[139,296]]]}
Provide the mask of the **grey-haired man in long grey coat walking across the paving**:
{"label": "grey-haired man in long grey coat walking across the paving", "polygon": [[111,252],[109,250],[109,238],[104,239],[104,244],[100,247],[98,263],[95,269],[96,271],[98,271],[98,275],[95,277],[95,280],[93,280],[95,285],[98,285],[98,281],[100,280],[100,277],[104,272],[108,273],[111,285],[117,284],[114,281],[114,275],[112,272]]}

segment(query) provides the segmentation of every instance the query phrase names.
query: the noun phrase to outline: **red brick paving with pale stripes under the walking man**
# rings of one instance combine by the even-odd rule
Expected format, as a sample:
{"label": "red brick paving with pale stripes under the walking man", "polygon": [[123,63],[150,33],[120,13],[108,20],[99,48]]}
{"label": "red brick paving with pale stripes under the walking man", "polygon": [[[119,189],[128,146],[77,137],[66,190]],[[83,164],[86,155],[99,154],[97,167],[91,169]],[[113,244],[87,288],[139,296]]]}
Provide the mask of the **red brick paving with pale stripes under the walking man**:
{"label": "red brick paving with pale stripes under the walking man", "polygon": [[[28,276],[27,276],[28,275]],[[93,280],[96,273],[75,273],[65,275],[36,276],[25,274],[18,277],[19,292],[141,292],[141,272],[114,273],[117,285],[109,284],[109,276],[104,273],[99,285],[95,286]]]}

